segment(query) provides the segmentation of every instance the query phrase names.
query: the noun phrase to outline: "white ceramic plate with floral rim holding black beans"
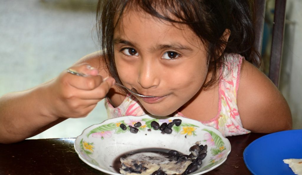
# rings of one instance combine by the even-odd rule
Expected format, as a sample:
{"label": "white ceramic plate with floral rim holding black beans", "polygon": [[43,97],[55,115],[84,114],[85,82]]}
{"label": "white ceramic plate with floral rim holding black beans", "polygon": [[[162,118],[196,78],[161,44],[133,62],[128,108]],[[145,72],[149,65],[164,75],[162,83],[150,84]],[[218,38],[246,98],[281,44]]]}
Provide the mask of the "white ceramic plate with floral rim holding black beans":
{"label": "white ceramic plate with floral rim holding black beans", "polygon": [[[182,124],[178,127],[174,125],[171,134],[162,134],[160,130],[154,130],[150,126],[154,120],[161,124],[174,119],[181,119]],[[128,126],[139,121],[142,126],[138,128],[138,133],[131,133]],[[121,123],[128,129],[122,130],[119,127]],[[79,158],[86,164],[104,173],[117,175],[120,173],[112,167],[113,161],[123,153],[142,148],[167,148],[189,155],[189,148],[198,141],[208,146],[207,156],[201,168],[192,175],[203,174],[218,167],[231,151],[229,140],[213,127],[184,117],[152,115],[118,117],[92,125],[76,138],[74,146]]]}

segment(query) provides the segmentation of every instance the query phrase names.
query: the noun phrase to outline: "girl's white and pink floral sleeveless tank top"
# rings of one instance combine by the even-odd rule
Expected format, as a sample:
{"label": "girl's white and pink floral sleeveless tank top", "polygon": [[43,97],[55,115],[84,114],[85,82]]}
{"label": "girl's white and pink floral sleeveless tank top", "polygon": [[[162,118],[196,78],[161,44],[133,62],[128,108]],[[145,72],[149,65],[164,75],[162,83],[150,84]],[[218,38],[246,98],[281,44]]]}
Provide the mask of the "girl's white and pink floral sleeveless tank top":
{"label": "girl's white and pink floral sleeveless tank top", "polygon": [[[235,136],[250,133],[243,128],[237,107],[237,90],[239,87],[240,68],[242,56],[238,54],[226,55],[227,64],[220,69],[222,74],[219,80],[219,102],[217,115],[209,121],[200,121],[204,125],[219,130],[223,136]],[[108,118],[122,116],[141,116],[148,114],[140,102],[130,93],[117,108],[111,105],[108,98],[104,100]],[[176,112],[174,117],[185,117],[182,113]]]}

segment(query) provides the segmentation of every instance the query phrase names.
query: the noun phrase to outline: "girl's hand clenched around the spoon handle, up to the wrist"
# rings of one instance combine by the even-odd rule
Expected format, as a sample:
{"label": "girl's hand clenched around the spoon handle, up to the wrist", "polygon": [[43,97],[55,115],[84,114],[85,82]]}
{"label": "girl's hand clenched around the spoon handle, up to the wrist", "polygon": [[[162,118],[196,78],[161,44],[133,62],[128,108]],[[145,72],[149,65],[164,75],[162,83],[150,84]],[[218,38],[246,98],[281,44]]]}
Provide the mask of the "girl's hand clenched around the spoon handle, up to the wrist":
{"label": "girl's hand clenched around the spoon handle, up to the wrist", "polygon": [[81,77],[62,72],[59,77],[50,82],[51,101],[48,102],[50,115],[54,117],[75,118],[87,116],[106,97],[114,85],[112,77],[103,78],[96,68],[88,64],[79,64],[70,69],[87,75]]}

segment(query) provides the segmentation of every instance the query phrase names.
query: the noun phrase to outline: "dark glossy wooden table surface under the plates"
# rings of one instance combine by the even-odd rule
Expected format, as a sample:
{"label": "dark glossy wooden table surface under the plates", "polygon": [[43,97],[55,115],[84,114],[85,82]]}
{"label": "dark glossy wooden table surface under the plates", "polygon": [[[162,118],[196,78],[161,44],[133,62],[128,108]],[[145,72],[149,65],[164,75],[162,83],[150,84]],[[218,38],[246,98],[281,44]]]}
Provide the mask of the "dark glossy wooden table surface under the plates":
{"label": "dark glossy wooden table surface under the plates", "polygon": [[[243,151],[265,134],[250,133],[227,137],[231,153],[219,167],[206,174],[251,174]],[[85,164],[74,150],[75,138],[24,140],[0,144],[0,174],[104,174]]]}

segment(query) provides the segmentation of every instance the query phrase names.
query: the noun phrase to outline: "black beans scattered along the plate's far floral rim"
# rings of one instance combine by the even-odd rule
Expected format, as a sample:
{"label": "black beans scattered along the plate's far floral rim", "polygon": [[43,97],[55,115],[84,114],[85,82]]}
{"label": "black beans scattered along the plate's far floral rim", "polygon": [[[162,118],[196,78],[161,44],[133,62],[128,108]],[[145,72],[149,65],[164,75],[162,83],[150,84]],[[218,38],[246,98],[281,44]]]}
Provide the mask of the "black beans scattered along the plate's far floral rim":
{"label": "black beans scattered along the plate's far floral rim", "polygon": [[[182,124],[182,120],[180,119],[174,119],[172,122],[170,123],[162,123],[159,126],[159,123],[157,123],[156,121],[152,121],[151,122],[151,127],[153,127],[154,130],[161,130],[162,133],[167,133],[167,134],[171,134],[172,133],[172,127],[174,125],[179,126],[180,124]],[[129,125],[130,128],[130,132],[131,133],[137,133],[138,132],[138,127],[142,126],[142,123],[137,122],[134,124],[134,127],[132,127],[131,125]],[[120,124],[120,128],[122,128],[122,130],[127,130],[127,127],[124,123]]]}

